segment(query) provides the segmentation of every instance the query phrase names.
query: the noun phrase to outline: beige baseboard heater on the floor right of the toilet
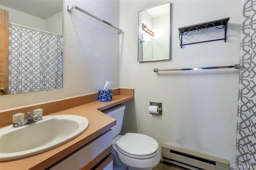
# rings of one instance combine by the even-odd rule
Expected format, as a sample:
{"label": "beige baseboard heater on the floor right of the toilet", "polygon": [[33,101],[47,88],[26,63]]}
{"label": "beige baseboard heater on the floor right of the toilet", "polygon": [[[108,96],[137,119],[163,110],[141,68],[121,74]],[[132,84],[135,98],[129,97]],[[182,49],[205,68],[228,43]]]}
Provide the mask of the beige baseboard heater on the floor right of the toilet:
{"label": "beige baseboard heater on the floor right of the toilet", "polygon": [[228,170],[228,160],[162,144],[162,160],[190,170]]}

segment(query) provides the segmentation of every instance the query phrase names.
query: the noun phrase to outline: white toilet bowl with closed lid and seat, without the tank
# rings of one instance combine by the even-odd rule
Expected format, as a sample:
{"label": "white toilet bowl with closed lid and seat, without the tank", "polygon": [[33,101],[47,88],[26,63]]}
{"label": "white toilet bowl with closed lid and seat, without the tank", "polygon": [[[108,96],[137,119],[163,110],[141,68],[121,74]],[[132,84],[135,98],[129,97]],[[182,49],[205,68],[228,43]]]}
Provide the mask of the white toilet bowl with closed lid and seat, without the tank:
{"label": "white toilet bowl with closed lid and seat, without the tank", "polygon": [[[113,139],[115,166],[128,170],[151,170],[160,161],[158,143],[150,136],[126,133]],[[118,160],[117,160],[118,159]]]}

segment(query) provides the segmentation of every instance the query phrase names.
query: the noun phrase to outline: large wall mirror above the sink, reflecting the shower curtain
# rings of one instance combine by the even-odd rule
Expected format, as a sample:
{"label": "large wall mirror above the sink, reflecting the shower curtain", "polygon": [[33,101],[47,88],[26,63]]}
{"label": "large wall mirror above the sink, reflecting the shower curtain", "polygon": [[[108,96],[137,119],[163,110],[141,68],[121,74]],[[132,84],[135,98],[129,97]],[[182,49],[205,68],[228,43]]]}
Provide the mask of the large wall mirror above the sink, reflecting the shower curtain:
{"label": "large wall mirror above the sink, reflecting the shower curtain", "polygon": [[0,94],[62,88],[62,0],[1,0],[0,8],[9,33]]}

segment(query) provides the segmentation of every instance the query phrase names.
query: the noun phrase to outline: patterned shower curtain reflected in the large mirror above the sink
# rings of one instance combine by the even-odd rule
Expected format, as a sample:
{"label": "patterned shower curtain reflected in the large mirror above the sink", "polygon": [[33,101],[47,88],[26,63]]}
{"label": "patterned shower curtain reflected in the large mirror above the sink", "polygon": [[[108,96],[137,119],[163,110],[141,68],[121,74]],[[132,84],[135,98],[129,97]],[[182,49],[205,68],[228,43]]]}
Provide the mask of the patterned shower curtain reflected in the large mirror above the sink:
{"label": "patterned shower curtain reflected in the large mirror above the sink", "polygon": [[9,26],[9,94],[62,87],[62,36]]}

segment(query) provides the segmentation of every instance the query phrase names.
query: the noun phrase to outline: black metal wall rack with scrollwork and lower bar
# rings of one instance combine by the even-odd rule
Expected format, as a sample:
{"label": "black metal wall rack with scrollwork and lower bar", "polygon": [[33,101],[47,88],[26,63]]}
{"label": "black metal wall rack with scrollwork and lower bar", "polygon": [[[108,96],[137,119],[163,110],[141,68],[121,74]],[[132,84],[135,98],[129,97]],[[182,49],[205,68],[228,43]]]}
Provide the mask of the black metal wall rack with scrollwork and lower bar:
{"label": "black metal wall rack with scrollwork and lower bar", "polygon": [[[220,19],[220,20],[214,20],[214,21],[210,21],[210,22],[204,22],[204,23],[201,23],[201,24],[195,24],[195,25],[192,25],[192,26],[186,26],[186,27],[178,28],[179,38],[180,38],[180,47],[182,48],[183,45],[188,45],[188,44],[211,42],[211,41],[217,41],[217,40],[224,40],[226,42],[227,29],[228,29],[228,20],[229,19],[230,19],[230,17],[223,18],[223,19]],[[218,26],[220,26],[220,27],[218,27]],[[210,29],[211,27],[216,27],[218,29],[223,29],[224,28],[224,31],[225,31],[224,38],[216,39],[216,40],[202,41],[202,42],[186,43],[186,44],[182,43],[182,37],[187,35],[188,32]]]}

